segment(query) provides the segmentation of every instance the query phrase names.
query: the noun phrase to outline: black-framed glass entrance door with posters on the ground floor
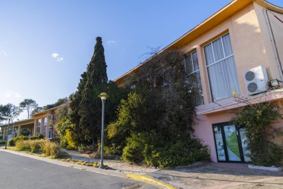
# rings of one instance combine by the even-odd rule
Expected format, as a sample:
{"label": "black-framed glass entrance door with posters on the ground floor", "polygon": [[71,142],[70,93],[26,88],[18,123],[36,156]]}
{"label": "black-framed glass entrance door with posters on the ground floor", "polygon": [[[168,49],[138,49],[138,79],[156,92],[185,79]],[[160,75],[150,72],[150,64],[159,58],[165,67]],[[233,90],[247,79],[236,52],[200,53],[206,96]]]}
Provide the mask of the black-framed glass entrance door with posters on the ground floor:
{"label": "black-framed glass entrance door with posters on the ground floor", "polygon": [[228,123],[213,124],[218,162],[250,162],[245,129]]}

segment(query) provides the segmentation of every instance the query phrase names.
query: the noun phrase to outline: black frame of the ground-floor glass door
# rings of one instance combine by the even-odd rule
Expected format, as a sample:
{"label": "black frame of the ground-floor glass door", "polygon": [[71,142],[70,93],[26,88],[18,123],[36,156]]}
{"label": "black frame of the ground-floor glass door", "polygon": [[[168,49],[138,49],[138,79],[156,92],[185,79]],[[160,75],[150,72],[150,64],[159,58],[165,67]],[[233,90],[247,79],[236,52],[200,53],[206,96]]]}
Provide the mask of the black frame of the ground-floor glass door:
{"label": "black frame of the ground-floor glass door", "polygon": [[[225,132],[224,132],[224,126],[227,125],[231,125],[229,124],[229,122],[222,122],[222,123],[214,123],[212,124],[212,129],[213,129],[213,138],[214,138],[214,144],[215,144],[215,151],[216,151],[216,155],[217,155],[217,162],[226,162],[226,163],[239,163],[239,164],[247,164],[249,162],[245,162],[245,158],[243,155],[243,147],[242,147],[242,143],[241,143],[241,136],[239,134],[239,127],[237,127],[237,125],[235,126],[235,130],[236,130],[236,134],[237,134],[237,142],[238,142],[238,147],[239,147],[239,153],[241,156],[241,161],[230,161],[228,160],[228,151],[227,151],[227,145],[226,145],[226,138],[225,138]],[[214,127],[215,126],[220,126],[221,127],[221,135],[222,135],[222,141],[223,141],[223,145],[224,145],[224,153],[225,153],[225,157],[226,160],[219,160],[218,158],[218,151],[217,151],[217,144],[216,144],[216,140],[215,140],[215,133],[214,133]]]}

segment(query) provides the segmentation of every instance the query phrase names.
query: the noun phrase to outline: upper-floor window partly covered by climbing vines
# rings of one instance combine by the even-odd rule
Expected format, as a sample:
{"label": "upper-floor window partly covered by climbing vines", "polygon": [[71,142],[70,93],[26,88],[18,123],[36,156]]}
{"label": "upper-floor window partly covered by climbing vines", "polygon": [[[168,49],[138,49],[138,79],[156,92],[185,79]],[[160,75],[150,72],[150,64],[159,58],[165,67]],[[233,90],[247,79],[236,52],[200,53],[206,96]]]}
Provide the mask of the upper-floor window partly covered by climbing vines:
{"label": "upper-floor window partly covered by climbing vines", "polygon": [[193,92],[193,103],[202,105],[204,103],[202,97],[202,82],[200,80],[200,68],[198,66],[198,54],[196,51],[185,57],[185,69],[189,74],[189,84],[191,92]]}

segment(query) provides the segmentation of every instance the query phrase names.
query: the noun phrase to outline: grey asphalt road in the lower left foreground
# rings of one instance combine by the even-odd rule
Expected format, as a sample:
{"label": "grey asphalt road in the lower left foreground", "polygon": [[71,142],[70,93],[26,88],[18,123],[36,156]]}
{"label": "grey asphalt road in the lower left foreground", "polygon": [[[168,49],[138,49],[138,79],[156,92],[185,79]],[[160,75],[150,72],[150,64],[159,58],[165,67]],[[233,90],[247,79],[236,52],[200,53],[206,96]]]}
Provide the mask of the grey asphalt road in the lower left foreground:
{"label": "grey asphalt road in the lower left foreground", "polygon": [[154,188],[131,179],[100,175],[0,151],[0,188],[122,188],[135,184],[140,188]]}

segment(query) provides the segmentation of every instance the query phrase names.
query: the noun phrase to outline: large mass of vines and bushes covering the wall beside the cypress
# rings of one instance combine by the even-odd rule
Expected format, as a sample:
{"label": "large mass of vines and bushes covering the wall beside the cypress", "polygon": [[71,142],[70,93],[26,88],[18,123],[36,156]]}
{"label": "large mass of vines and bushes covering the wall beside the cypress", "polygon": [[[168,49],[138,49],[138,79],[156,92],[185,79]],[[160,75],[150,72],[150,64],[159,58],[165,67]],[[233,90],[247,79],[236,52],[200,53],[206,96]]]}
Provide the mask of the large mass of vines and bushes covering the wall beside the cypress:
{"label": "large mass of vines and bushes covering the wall beside the cypress", "polygon": [[143,66],[129,81],[132,92],[118,107],[118,121],[107,127],[109,149],[128,162],[160,167],[209,160],[206,147],[191,138],[195,111],[184,70],[178,51]]}

